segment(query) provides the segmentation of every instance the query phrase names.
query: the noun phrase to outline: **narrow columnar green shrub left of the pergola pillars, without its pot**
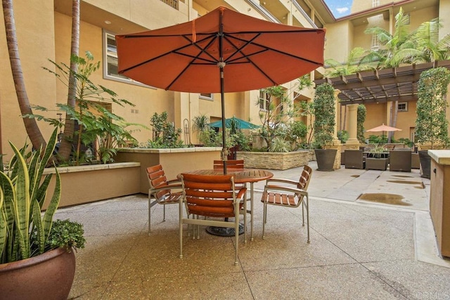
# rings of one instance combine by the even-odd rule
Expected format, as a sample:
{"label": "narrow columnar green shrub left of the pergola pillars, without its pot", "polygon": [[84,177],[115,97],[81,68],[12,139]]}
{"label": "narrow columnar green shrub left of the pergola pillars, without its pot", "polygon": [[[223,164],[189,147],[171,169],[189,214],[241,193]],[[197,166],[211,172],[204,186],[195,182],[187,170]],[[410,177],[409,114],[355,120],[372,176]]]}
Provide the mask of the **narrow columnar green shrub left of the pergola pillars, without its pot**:
{"label": "narrow columnar green shrub left of the pergola pillars, without its pot", "polygon": [[314,142],[322,148],[333,141],[335,129],[335,90],[331,84],[316,87],[314,95]]}

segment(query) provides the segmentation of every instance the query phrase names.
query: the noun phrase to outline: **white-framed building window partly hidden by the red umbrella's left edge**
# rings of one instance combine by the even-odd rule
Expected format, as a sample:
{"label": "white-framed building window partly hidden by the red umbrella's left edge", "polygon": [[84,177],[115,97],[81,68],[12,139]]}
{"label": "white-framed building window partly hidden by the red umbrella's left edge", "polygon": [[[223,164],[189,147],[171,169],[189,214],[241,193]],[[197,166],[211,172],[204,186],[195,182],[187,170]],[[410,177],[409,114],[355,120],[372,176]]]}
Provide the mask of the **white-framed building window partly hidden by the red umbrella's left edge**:
{"label": "white-framed building window partly hidden by the red umbrella's left edge", "polygon": [[115,35],[105,31],[103,31],[103,78],[146,86],[146,84],[119,74]]}

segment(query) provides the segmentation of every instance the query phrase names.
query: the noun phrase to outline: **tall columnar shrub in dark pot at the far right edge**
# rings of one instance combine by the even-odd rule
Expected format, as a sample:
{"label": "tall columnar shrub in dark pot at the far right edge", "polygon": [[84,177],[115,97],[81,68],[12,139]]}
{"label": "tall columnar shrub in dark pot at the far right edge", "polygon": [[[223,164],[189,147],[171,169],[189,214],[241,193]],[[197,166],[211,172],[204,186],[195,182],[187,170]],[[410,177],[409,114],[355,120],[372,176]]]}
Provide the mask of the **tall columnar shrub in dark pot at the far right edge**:
{"label": "tall columnar shrub in dark pot at the far right edge", "polygon": [[[430,149],[446,148],[449,144],[449,122],[445,111],[450,71],[444,67],[426,70],[420,74],[416,118],[416,143]],[[431,158],[428,150],[419,151],[422,176],[430,178]]]}

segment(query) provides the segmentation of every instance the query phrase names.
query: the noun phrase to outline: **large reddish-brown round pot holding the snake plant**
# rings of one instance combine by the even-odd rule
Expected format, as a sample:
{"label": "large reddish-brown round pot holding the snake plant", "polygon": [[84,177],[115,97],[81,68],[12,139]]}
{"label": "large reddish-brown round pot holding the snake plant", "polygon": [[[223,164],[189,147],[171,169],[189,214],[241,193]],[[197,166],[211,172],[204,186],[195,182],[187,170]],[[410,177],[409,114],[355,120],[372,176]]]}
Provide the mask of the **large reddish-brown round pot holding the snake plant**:
{"label": "large reddish-brown round pot holding the snake plant", "polygon": [[75,254],[65,248],[0,264],[0,299],[68,299],[75,276]]}

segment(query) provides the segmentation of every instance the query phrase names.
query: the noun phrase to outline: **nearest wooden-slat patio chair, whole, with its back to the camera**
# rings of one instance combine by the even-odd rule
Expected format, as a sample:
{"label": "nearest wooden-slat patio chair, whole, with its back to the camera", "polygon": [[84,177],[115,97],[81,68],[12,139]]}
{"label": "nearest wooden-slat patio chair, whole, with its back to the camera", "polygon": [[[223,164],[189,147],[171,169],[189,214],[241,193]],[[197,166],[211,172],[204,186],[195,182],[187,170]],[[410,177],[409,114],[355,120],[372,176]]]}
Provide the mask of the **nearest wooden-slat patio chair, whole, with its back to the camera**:
{"label": "nearest wooden-slat patio chair, whole, with its back to the camera", "polygon": [[[195,175],[181,174],[184,197],[180,199],[180,259],[183,258],[183,224],[191,224],[197,231],[199,226],[217,226],[234,228],[234,264],[238,264],[239,241],[239,213],[245,206],[243,197],[246,188],[236,190],[233,175]],[[186,211],[193,215],[192,219],[185,218],[181,207],[186,205]],[[204,216],[205,218],[198,218]],[[219,219],[217,219],[219,218]],[[233,218],[233,221],[221,221],[220,219]],[[244,224],[245,226],[245,224]],[[195,235],[194,235],[195,236]],[[220,255],[220,254],[217,254]]]}

